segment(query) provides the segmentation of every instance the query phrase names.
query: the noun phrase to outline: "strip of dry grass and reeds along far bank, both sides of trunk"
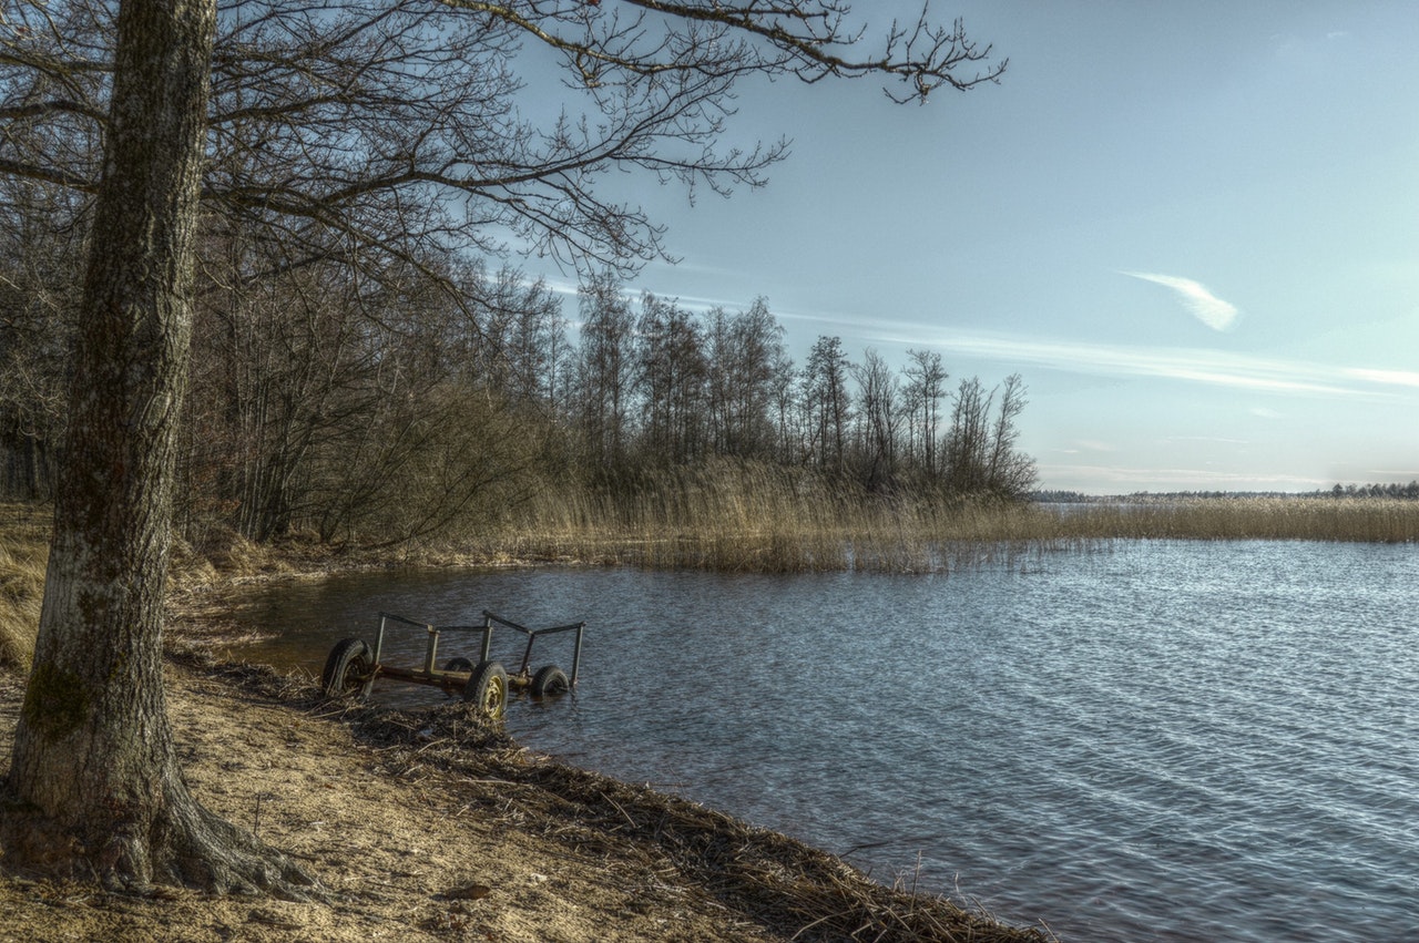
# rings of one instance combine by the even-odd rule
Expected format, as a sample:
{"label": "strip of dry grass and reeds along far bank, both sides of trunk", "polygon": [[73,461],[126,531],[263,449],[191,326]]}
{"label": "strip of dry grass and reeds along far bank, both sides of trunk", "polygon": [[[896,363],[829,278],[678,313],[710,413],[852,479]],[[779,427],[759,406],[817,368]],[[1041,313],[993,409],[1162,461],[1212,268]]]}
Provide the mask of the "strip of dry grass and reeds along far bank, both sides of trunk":
{"label": "strip of dry grass and reeds along far bank, both sides of trunk", "polygon": [[[0,503],[0,664],[27,666],[38,625],[48,510]],[[609,496],[546,491],[502,526],[441,547],[403,546],[341,567],[579,562],[753,573],[944,573],[1017,564],[1110,540],[1419,540],[1419,502],[1391,498],[1199,498],[1030,505],[874,496],[799,471],[715,462]],[[230,535],[177,547],[172,586],[331,569],[309,539]]]}

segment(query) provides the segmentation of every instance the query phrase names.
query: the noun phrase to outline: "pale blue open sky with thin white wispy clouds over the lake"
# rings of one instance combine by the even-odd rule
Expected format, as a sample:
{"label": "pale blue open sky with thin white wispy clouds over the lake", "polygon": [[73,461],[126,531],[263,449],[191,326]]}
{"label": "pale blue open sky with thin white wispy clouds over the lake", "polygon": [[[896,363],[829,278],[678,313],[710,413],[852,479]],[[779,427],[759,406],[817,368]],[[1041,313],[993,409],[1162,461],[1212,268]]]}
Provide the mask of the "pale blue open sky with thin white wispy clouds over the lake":
{"label": "pale blue open sky with thin white wispy clouds over the lake", "polygon": [[[895,0],[856,10],[881,23]],[[1419,479],[1419,4],[935,0],[1009,67],[893,105],[748,87],[768,187],[644,184],[681,261],[636,289],[756,296],[802,363],[836,335],[954,386],[1022,374],[1040,488]]]}

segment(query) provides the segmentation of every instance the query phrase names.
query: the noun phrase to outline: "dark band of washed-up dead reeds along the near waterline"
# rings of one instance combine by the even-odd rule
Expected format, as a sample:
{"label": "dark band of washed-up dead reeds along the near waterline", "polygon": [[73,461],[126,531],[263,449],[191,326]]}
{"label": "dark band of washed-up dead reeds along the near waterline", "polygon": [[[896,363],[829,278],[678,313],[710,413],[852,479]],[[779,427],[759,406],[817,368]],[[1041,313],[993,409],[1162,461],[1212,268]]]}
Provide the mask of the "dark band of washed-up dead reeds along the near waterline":
{"label": "dark band of washed-up dead reeds along the near waterline", "polygon": [[[263,692],[311,702],[309,691],[281,688],[268,669],[233,666],[228,672]],[[1002,925],[942,896],[888,888],[834,855],[690,800],[522,753],[501,732],[468,723],[458,706],[404,712],[355,705],[339,719],[358,742],[379,750],[386,766],[419,764],[464,783],[497,784],[499,801],[485,813],[579,854],[634,858],[644,874],[674,875],[714,906],[752,915],[755,923],[790,940],[1054,939],[1042,929]]]}

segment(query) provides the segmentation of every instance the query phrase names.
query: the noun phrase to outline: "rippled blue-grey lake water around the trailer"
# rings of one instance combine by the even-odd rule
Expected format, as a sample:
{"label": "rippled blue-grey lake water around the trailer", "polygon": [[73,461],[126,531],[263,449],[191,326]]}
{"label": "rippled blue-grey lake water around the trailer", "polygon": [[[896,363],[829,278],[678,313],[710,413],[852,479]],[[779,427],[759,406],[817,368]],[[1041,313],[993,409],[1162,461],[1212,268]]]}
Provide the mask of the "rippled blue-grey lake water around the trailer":
{"label": "rippled blue-grey lake water around the trailer", "polygon": [[[380,574],[275,587],[245,618],[284,632],[251,655],[318,672],[379,610],[484,608],[589,623],[576,695],[509,708],[524,743],[883,881],[920,865],[918,886],[1074,942],[1419,940],[1419,549],[1124,543],[942,577]],[[414,665],[423,638],[403,640],[386,661]],[[569,665],[561,641],[546,655],[534,666]]]}

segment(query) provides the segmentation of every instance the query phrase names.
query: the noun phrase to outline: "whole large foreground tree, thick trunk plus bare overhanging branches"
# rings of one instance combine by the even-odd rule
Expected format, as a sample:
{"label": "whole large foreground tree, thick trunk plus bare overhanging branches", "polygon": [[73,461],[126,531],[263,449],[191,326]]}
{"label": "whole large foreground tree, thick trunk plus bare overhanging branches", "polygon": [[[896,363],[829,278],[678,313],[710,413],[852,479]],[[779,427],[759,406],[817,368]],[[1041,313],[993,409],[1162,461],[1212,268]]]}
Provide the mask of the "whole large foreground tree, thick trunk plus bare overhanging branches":
{"label": "whole large foreground tree, thick trunk plus bare overhanging branches", "polygon": [[[894,98],[920,99],[992,81],[1003,62],[959,75],[989,50],[925,11],[858,54],[863,34],[837,0],[237,0],[221,7],[216,52],[211,0],[121,0],[112,58],[109,10],[20,0],[0,41],[0,118],[104,140],[99,159],[92,147],[0,139],[0,172],[95,194],[4,864],[62,865],[125,888],[295,892],[297,868],[187,793],[163,703],[199,199],[289,245],[288,268],[335,250],[424,267],[455,242],[512,240],[583,271],[626,268],[661,251],[661,230],[599,199],[602,174],[729,190],[762,183],[783,156],[719,149],[738,79],[877,74],[905,89]],[[521,43],[558,57],[563,95],[595,121],[521,118]]]}

